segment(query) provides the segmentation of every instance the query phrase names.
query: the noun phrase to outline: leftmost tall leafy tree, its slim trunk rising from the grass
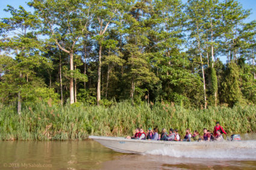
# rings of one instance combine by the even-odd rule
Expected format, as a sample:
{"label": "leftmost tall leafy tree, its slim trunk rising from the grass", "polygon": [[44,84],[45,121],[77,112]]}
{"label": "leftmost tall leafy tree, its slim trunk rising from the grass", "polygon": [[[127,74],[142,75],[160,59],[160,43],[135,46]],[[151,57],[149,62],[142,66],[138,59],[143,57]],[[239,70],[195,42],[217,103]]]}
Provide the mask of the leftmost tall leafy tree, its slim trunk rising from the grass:
{"label": "leftmost tall leafy tree, its slim trunk rising from the grass", "polygon": [[[34,77],[34,67],[40,65],[40,52],[43,51],[42,41],[37,39],[37,35],[33,32],[39,28],[39,20],[37,16],[26,11],[23,7],[15,9],[7,5],[6,12],[10,12],[10,18],[2,19],[2,32],[5,34],[13,34],[13,37],[6,36],[1,41],[5,52],[10,51],[15,55],[16,64],[13,64],[10,70],[12,78],[16,77],[16,87],[22,89],[25,87],[30,78]],[[4,56],[2,56],[4,57]],[[43,58],[41,58],[43,60]],[[15,67],[15,68],[14,68]],[[15,90],[14,90],[15,93]],[[22,105],[22,91],[17,92],[17,112],[20,114]]]}

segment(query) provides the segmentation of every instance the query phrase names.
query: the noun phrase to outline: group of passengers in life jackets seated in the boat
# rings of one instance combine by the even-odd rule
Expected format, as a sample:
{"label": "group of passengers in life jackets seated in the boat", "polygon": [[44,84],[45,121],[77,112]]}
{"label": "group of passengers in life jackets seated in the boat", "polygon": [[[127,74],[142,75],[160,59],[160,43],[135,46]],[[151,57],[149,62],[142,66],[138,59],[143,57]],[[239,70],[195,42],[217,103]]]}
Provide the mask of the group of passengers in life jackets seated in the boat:
{"label": "group of passengers in life jackets seated in the boat", "polygon": [[127,136],[126,139],[148,139],[148,140],[160,140],[160,141],[223,141],[222,133],[226,135],[225,130],[220,126],[219,122],[216,122],[216,126],[214,127],[213,133],[210,130],[204,128],[204,135],[200,136],[198,130],[195,130],[190,133],[190,129],[186,129],[186,135],[184,139],[181,140],[181,136],[178,133],[177,129],[169,129],[169,134],[167,134],[166,129],[162,129],[161,134],[158,134],[158,128],[155,127],[152,130],[150,127],[148,132],[145,133],[143,129],[139,127],[136,129],[136,133],[133,136]]}

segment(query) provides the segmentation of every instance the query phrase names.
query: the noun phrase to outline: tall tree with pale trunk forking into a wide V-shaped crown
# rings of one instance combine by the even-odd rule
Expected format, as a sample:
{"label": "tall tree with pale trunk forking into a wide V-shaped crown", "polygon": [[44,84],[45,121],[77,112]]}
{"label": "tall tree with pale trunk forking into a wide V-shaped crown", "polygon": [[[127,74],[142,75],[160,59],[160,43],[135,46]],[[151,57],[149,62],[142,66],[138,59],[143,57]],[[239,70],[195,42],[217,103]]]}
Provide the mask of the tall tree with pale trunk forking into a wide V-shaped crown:
{"label": "tall tree with pale trunk forking into a wide V-shaped crown", "polygon": [[69,92],[70,104],[72,104],[74,103],[73,55],[80,38],[88,34],[87,26],[96,4],[93,1],[80,0],[34,0],[29,4],[42,19],[43,33],[48,35],[63,52],[69,54],[71,71]]}

